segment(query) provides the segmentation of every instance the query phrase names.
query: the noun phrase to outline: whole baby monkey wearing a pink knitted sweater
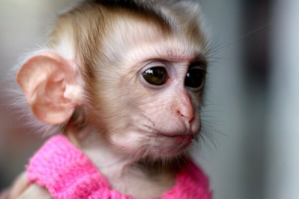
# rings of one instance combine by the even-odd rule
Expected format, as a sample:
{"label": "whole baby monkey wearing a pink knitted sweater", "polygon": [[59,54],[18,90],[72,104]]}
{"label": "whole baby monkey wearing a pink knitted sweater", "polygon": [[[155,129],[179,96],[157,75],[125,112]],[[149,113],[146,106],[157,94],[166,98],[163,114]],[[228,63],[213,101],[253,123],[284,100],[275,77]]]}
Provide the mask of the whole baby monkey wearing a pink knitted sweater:
{"label": "whole baby monkey wearing a pink knitted sweater", "polygon": [[[5,199],[211,199],[188,157],[206,61],[188,0],[84,0],[62,13],[17,74],[59,127]],[[56,128],[57,129],[57,128]]]}

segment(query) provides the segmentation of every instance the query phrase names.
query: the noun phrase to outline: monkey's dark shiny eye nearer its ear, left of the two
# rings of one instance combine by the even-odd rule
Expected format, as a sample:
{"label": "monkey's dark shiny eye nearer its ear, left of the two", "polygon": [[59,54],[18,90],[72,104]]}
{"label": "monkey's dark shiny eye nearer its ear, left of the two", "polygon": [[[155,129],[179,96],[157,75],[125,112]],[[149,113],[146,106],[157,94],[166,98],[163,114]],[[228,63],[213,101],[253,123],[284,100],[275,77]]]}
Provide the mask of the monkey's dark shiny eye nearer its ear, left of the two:
{"label": "monkey's dark shiny eye nearer its ear, left of the two", "polygon": [[146,70],[142,76],[152,85],[162,85],[165,83],[166,71],[163,67],[153,67]]}

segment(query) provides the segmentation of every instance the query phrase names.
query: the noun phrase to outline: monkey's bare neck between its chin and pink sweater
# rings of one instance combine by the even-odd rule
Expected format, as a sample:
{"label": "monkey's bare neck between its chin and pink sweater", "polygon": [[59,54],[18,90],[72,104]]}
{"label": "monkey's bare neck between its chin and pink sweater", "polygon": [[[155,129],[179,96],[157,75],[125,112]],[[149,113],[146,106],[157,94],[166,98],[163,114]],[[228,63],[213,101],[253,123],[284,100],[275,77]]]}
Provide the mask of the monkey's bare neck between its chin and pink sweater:
{"label": "monkey's bare neck between its chin and pink sweater", "polygon": [[146,164],[120,154],[91,129],[78,132],[68,127],[66,134],[106,176],[111,189],[138,199],[159,198],[174,185],[176,170],[170,165]]}

